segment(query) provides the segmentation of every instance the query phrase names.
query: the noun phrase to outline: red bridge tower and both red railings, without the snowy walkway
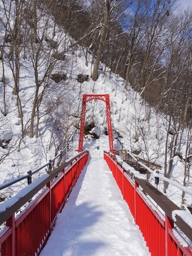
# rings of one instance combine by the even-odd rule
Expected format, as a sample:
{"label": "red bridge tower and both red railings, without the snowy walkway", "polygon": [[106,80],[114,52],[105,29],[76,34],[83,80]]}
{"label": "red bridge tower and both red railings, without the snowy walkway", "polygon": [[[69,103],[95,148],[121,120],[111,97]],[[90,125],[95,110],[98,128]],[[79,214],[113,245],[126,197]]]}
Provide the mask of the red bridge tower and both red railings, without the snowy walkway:
{"label": "red bridge tower and both red railings, without the snowy walkway", "polygon": [[[70,201],[71,190],[78,182],[77,179],[89,158],[89,151],[83,151],[83,137],[86,103],[91,100],[102,100],[106,103],[110,150],[104,151],[103,157],[121,190],[124,201],[129,206],[135,225],[139,227],[145,239],[150,254],[192,255],[191,227],[179,215],[176,214],[175,219],[172,216],[173,211],[180,210],[179,207],[149,182],[135,178],[129,170],[125,170],[124,165],[118,161],[117,152],[114,154],[109,94],[83,94],[79,153],[55,168],[41,181],[36,180],[30,184],[25,194],[21,193],[17,200],[8,204],[1,212],[0,225],[5,223],[5,228],[0,233],[1,255],[39,255],[42,252],[58,213],[62,211],[67,199]],[[34,201],[16,215],[16,212],[39,191],[42,192]],[[137,253],[137,248],[135,252]],[[125,252],[124,255],[129,253]]]}

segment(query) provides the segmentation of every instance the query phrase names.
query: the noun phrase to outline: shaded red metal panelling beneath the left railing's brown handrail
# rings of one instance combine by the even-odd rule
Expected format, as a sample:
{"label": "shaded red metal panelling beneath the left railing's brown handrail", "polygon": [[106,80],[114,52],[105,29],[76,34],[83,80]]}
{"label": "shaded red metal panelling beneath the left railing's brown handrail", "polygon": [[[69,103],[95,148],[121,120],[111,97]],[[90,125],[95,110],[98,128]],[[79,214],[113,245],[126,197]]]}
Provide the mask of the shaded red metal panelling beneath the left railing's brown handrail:
{"label": "shaded red metal panelling beneath the left railing's brown handrail", "polygon": [[[73,163],[73,180],[76,182],[79,173],[88,159],[88,153],[78,157]],[[79,170],[81,169],[81,170]],[[77,175],[78,174],[78,175]],[[14,215],[6,221],[6,228],[0,235],[1,255],[39,255],[49,237],[58,212],[62,209],[72,189],[72,166],[64,170],[31,205],[26,207],[17,220]]]}

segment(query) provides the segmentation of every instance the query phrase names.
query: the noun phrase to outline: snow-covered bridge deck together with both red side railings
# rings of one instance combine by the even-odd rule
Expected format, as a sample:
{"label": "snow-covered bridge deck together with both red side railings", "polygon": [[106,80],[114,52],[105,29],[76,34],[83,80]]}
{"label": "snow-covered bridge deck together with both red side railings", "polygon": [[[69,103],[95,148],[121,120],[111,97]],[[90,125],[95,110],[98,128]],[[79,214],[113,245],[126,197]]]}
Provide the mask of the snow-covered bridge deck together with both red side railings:
{"label": "snow-covered bridge deck together with both red side railings", "polygon": [[[192,255],[187,239],[175,229],[180,228],[192,241],[190,221],[181,218],[183,211],[146,180],[131,179],[131,167],[126,170],[127,164],[123,163],[123,167],[115,155],[105,151],[104,160],[107,142],[105,135],[98,140],[88,138],[85,148],[89,148],[89,159],[87,150],[77,154],[41,181],[30,184],[27,193],[26,188],[21,190],[25,195],[11,198],[9,207],[6,202],[2,204],[5,210],[0,214],[0,223],[6,221],[0,234],[2,256],[122,256],[149,255],[149,251],[154,256]],[[15,218],[15,211],[42,188],[42,193]],[[149,198],[161,207],[165,217]]]}

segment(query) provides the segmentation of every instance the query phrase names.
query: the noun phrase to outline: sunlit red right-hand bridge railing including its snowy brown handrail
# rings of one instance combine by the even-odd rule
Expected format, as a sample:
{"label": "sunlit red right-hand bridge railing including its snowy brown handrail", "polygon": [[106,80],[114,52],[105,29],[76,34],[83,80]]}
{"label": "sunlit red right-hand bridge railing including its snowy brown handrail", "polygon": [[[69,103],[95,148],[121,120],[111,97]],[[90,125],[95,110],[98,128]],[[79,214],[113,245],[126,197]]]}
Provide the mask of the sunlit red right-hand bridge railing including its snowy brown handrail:
{"label": "sunlit red right-hand bridge railing including its snowy brown handrail", "polygon": [[[117,162],[115,155],[104,152],[104,158],[123,198],[129,205],[151,255],[192,255],[191,246],[179,234],[181,231],[191,243],[192,228],[178,215],[175,215],[175,222],[172,219],[172,211],[181,209],[149,182],[134,178],[133,174],[125,171]],[[159,209],[161,208],[162,213],[151,203],[151,199]],[[180,241],[185,241],[185,247]]]}

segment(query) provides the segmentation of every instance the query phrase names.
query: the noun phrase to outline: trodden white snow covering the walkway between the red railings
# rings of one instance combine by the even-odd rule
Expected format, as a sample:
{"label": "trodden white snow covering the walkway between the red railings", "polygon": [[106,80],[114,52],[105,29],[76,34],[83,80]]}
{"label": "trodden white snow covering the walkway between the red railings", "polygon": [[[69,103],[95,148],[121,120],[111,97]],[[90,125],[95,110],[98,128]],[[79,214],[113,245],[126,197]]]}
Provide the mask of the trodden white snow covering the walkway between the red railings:
{"label": "trodden white snow covering the walkway between the red railings", "polygon": [[101,151],[90,151],[41,256],[150,255]]}

